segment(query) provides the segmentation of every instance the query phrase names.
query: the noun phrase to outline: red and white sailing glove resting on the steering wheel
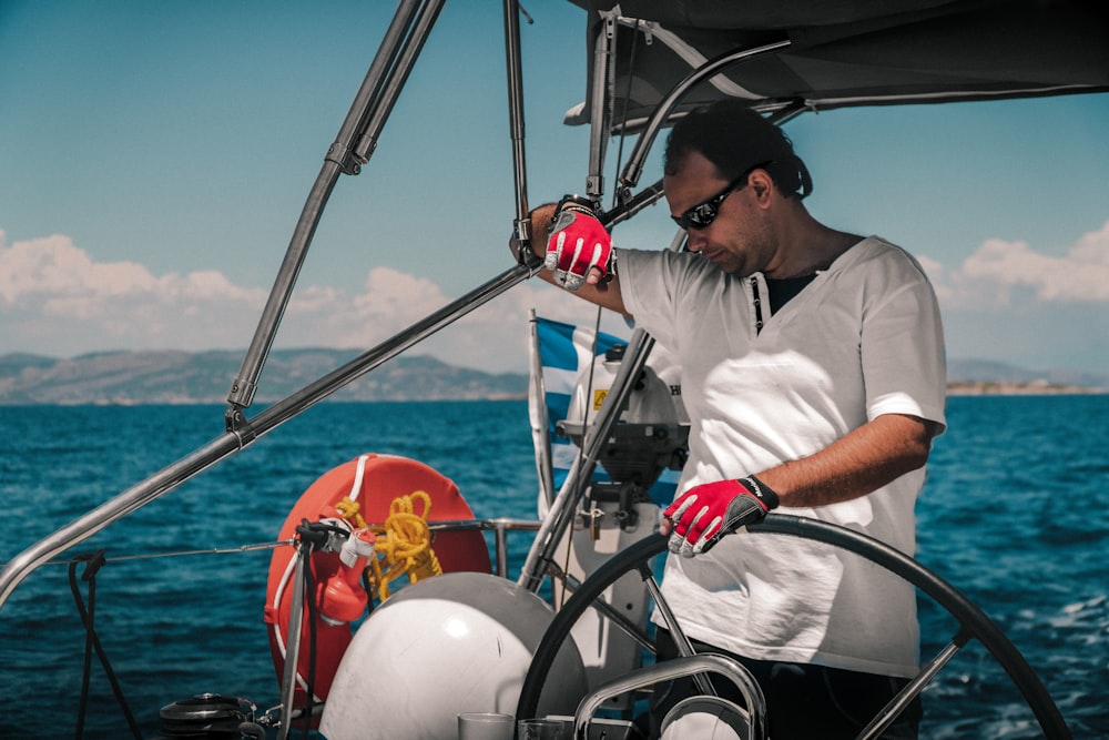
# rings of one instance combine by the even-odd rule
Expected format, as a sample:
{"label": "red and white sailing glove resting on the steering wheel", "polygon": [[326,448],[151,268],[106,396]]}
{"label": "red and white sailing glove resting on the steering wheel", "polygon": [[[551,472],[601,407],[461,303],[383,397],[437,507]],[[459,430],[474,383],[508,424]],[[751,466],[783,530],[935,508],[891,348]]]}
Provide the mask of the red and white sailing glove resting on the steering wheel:
{"label": "red and white sailing glove resting on the steering wheel", "polygon": [[708,553],[721,537],[762,521],[777,505],[777,494],[753,475],[694,486],[662,513],[674,524],[670,551],[686,558]]}

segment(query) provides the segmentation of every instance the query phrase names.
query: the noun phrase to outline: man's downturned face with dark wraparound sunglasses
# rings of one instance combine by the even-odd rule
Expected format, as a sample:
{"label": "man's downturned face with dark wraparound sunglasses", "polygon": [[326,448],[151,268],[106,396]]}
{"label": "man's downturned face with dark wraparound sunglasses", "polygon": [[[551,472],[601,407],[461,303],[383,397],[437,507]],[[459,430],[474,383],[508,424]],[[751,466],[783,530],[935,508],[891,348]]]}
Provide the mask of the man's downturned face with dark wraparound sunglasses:
{"label": "man's downturned face with dark wraparound sunglasses", "polygon": [[690,251],[700,252],[726,273],[745,277],[764,270],[773,256],[773,230],[746,180],[726,190],[729,184],[696,151],[686,154],[678,172],[663,180],[670,213],[675,217],[704,203],[716,204],[711,223],[686,230]]}

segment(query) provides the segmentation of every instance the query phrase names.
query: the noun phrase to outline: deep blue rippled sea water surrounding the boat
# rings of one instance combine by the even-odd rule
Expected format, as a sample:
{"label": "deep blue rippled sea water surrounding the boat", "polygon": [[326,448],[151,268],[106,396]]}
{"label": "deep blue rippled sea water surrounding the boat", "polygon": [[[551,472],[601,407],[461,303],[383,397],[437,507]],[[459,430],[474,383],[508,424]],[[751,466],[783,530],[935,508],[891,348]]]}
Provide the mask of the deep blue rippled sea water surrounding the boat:
{"label": "deep blue rippled sea water surrounding the boat", "polygon": [[[1109,737],[1109,396],[953,397],[948,420],[917,506],[918,559],[1008,635],[1076,738]],[[0,408],[0,560],[222,433],[217,406]],[[536,516],[525,402],[309,409],[59,558],[104,550],[95,628],[144,737],[161,707],[197,693],[277,702],[271,550],[241,548],[272,544],[316,477],[365,452],[438,469],[478,517]],[[528,545],[509,537],[510,577]],[[925,658],[953,625],[922,599]],[[0,609],[0,738],[73,737],[83,663],[68,566],[43,566]],[[90,676],[84,737],[132,737],[95,657]],[[928,688],[925,713],[923,738],[1041,737],[977,641]]]}

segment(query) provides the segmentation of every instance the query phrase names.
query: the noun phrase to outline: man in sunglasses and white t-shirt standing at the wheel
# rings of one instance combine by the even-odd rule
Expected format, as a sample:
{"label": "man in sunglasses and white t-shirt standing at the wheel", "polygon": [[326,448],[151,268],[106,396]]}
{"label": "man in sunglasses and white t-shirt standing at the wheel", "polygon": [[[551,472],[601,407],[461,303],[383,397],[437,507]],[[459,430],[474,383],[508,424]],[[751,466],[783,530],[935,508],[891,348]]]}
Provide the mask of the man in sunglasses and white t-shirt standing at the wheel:
{"label": "man in sunglasses and white t-shirt standing at the wheel", "polygon": [[[854,738],[916,675],[913,587],[811,540],[723,535],[781,507],[915,551],[945,424],[935,295],[899,247],[816,221],[792,143],[740,102],[674,126],[663,184],[688,252],[613,250],[573,200],[533,212],[533,249],[548,281],[633,317],[682,365],[690,457],[660,531],[683,631],[753,671],[774,740]],[[883,737],[915,738],[918,718]]]}

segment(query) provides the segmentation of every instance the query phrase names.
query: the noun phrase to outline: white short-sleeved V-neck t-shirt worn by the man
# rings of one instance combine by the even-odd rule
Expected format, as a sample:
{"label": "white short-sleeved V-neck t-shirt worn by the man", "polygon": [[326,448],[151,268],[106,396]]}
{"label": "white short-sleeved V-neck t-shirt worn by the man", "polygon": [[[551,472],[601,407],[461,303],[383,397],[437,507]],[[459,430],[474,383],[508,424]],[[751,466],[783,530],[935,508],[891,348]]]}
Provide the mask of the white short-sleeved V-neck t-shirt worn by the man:
{"label": "white short-sleeved V-neck t-shirt worn by the man", "polygon": [[[899,247],[863,240],[774,315],[761,274],[731,276],[690,253],[619,256],[624,305],[682,364],[692,427],[679,491],[812,455],[883,414],[945,423],[939,311]],[[923,483],[915,470],[851,501],[779,510],[913,555]],[[671,556],[663,594],[689,637],[739,655],[917,671],[914,588],[840,548],[787,535],[725,537],[708,554]]]}

